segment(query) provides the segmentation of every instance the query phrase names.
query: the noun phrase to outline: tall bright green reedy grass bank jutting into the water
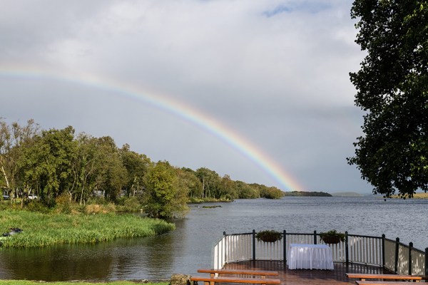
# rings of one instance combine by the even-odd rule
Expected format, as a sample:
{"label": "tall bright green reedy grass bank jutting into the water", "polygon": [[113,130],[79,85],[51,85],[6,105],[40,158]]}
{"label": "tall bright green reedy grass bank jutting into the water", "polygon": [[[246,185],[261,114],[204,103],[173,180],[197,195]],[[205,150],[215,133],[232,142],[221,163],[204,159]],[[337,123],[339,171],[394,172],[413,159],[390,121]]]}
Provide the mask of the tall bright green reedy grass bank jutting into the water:
{"label": "tall bright green reedy grass bank jutting into the water", "polygon": [[117,238],[149,237],[175,229],[161,219],[133,214],[42,214],[0,211],[0,234],[9,228],[24,232],[1,237],[2,247],[46,247],[54,244],[88,244]]}

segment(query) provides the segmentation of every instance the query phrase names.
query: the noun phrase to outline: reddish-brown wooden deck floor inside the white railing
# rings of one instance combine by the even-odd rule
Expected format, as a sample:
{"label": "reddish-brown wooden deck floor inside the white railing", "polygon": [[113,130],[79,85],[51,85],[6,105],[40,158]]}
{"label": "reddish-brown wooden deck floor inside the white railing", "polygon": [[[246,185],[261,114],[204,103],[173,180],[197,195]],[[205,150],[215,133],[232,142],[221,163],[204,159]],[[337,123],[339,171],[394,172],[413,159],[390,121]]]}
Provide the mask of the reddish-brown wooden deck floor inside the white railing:
{"label": "reddish-brown wooden deck floor inside the white railing", "polygon": [[364,264],[346,264],[335,263],[334,270],[309,270],[297,269],[290,270],[283,261],[241,261],[239,263],[226,264],[226,269],[255,269],[255,270],[273,270],[279,271],[281,284],[286,285],[349,285],[355,284],[356,279],[349,279],[345,275],[352,273],[371,273],[371,274],[392,274],[392,272],[377,266],[365,266]]}

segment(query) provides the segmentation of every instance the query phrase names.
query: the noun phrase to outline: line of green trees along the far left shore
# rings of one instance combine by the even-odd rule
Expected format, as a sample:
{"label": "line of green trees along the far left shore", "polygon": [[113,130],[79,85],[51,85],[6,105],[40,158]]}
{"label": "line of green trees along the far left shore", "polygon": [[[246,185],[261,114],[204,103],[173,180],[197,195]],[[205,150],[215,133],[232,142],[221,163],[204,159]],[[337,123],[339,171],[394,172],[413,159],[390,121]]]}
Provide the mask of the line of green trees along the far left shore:
{"label": "line of green trees along the far left shore", "polygon": [[[0,118],[0,188],[24,205],[31,195],[54,207],[56,198],[85,204],[94,196],[109,202],[137,197],[152,217],[184,212],[187,202],[238,198],[280,198],[276,187],[220,177],[206,167],[191,170],[168,161],[153,162],[113,138],[75,133],[73,127],[42,130]],[[0,197],[1,199],[1,197]]]}

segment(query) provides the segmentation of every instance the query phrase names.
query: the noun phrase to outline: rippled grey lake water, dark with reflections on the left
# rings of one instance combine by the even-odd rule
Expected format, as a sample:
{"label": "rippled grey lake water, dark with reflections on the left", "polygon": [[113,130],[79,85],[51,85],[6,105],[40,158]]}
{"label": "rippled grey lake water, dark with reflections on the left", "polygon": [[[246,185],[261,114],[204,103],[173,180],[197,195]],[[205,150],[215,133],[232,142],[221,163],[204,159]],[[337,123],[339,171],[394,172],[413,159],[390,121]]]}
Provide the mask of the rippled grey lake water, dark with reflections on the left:
{"label": "rippled grey lake water, dark with reflections on the left", "polygon": [[[204,205],[221,207],[204,208]],[[253,229],[312,233],[337,229],[350,234],[400,238],[428,247],[428,199],[374,197],[284,197],[190,204],[176,230],[161,237],[120,239],[95,245],[44,249],[0,249],[0,279],[162,280],[211,266],[211,249],[223,236]]]}

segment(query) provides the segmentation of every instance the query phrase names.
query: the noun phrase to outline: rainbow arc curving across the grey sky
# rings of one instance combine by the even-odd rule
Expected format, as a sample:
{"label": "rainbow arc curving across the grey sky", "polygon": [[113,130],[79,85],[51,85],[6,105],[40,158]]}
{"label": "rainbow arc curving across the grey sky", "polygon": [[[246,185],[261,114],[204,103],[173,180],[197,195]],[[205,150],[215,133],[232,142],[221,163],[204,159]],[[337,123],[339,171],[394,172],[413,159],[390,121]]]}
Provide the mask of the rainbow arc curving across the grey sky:
{"label": "rainbow arc curving across the grey sky", "polygon": [[[223,140],[231,147],[241,152],[245,157],[253,160],[256,165],[262,168],[274,180],[280,183],[282,190],[303,190],[303,187],[291,175],[288,175],[277,165],[277,162],[266,155],[260,148],[256,147],[252,142],[243,138],[237,132],[231,130],[227,126],[218,122],[214,118],[201,113],[199,110],[178,102],[173,98],[158,93],[147,93],[140,90],[136,86],[131,86],[129,83],[112,81],[106,78],[97,78],[93,75],[66,75],[46,69],[34,68],[29,66],[2,66],[0,65],[1,76],[12,76],[14,78],[29,78],[29,79],[51,79],[57,81],[65,81],[75,84],[90,86],[93,88],[106,90],[110,93],[118,93],[126,95],[136,100],[143,100],[147,103],[165,110],[168,113],[173,113],[180,118],[184,118],[189,122],[198,125],[200,128],[207,130],[209,133]],[[106,83],[108,82],[108,83]]]}

